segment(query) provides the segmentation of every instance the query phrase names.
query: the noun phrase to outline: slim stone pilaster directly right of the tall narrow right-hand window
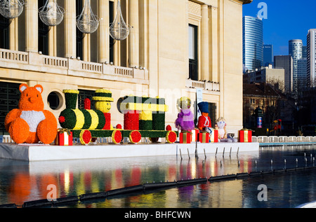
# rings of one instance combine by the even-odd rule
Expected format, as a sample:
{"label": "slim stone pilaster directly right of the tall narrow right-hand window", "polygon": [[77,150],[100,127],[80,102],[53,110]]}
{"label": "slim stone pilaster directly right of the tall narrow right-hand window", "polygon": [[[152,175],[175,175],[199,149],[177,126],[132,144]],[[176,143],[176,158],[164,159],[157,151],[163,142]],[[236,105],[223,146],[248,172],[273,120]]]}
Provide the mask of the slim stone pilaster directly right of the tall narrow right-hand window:
{"label": "slim stone pilaster directly right of the tall narrow right-hand window", "polygon": [[201,79],[209,80],[209,6],[205,4],[201,20]]}

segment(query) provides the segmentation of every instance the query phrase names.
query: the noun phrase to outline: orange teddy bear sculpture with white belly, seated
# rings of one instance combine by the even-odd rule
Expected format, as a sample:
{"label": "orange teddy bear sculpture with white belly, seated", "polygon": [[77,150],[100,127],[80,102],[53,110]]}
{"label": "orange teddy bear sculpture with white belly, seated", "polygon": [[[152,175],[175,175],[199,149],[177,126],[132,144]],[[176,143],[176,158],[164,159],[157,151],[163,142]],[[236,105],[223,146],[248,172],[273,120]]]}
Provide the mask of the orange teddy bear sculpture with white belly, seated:
{"label": "orange teddy bear sculpture with white belly, seated", "polygon": [[43,87],[21,84],[19,89],[19,109],[10,111],[4,121],[11,139],[17,144],[51,144],[57,135],[57,120],[53,113],[44,110]]}

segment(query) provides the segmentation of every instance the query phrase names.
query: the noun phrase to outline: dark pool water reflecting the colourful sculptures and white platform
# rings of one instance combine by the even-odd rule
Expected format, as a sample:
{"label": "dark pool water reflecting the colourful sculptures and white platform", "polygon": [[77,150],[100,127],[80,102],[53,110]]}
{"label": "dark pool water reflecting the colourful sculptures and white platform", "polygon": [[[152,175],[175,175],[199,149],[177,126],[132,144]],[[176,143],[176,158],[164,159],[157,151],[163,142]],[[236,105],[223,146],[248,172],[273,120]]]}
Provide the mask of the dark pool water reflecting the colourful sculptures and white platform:
{"label": "dark pool water reflecting the colourful sculptures and white platform", "polygon": [[[305,156],[308,162],[305,162]],[[63,160],[48,162],[19,162],[0,160],[0,204],[18,205],[31,200],[46,199],[47,186],[57,187],[57,197],[79,196],[106,190],[136,186],[146,182],[178,181],[180,179],[209,178],[223,174],[255,172],[271,168],[312,165],[315,149],[312,146],[263,148],[258,152],[232,155],[204,155],[199,158],[146,157],[103,160]],[[284,165],[287,159],[287,165]],[[273,160],[273,165],[270,164]],[[140,193],[107,200],[83,202],[67,207],[275,207],[272,202],[258,202],[258,185],[268,185],[273,202],[316,200],[315,173],[294,176],[275,175],[237,179],[168,188],[154,193]],[[304,177],[305,175],[305,177]],[[305,190],[306,198],[297,190]],[[296,196],[297,195],[297,196]],[[291,200],[290,200],[291,199]],[[298,204],[303,202],[298,201]],[[287,207],[295,207],[290,203]],[[284,204],[282,205],[284,206]]]}

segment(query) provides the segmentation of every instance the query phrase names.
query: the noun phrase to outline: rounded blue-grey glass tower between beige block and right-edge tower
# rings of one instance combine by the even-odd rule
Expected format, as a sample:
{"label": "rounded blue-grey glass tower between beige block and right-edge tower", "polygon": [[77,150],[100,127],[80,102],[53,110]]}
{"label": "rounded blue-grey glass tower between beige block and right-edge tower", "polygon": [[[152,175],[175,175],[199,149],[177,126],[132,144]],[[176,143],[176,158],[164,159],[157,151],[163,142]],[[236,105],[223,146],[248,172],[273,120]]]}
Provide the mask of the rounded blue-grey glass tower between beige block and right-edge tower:
{"label": "rounded blue-grey glass tower between beige block and right-edge tower", "polygon": [[289,41],[289,55],[293,58],[293,90],[297,92],[297,61],[303,57],[303,41],[301,39]]}

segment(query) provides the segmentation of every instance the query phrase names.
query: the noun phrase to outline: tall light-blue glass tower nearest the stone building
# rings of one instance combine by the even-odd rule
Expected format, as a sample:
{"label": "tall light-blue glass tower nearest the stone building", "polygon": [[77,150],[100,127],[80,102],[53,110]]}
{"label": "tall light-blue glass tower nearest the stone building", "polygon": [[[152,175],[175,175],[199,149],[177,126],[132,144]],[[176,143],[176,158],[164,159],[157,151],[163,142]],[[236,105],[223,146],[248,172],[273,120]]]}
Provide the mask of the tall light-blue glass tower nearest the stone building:
{"label": "tall light-blue glass tower nearest the stone building", "polygon": [[263,65],[263,21],[244,16],[242,30],[244,67],[254,71]]}

